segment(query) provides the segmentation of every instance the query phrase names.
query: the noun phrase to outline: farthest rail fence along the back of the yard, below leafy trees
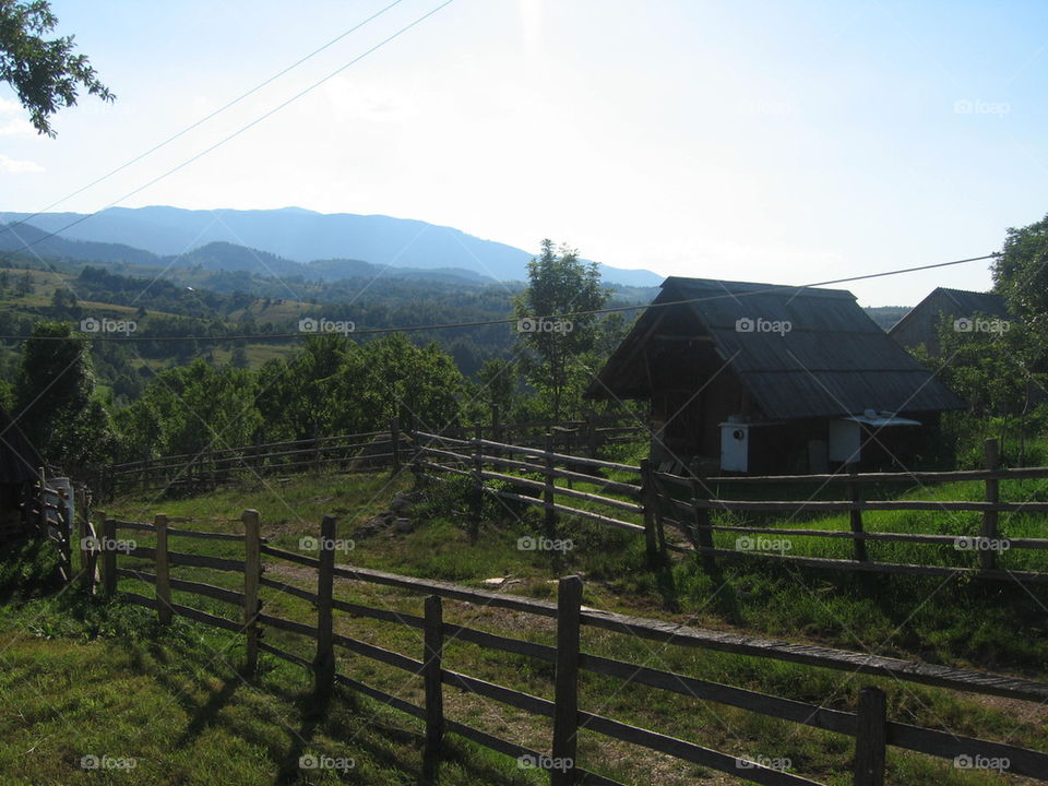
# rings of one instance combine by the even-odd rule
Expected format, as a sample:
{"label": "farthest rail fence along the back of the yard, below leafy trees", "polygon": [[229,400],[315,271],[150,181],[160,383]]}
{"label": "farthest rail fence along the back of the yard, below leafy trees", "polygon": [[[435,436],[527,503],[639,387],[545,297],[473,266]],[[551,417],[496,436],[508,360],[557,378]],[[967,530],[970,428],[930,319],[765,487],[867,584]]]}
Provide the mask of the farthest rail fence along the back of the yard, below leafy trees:
{"label": "farthest rail fence along the back of the yard, below leafy trees", "polygon": [[[585,420],[536,421],[449,426],[440,430],[449,438],[487,436],[512,439],[516,444],[544,445],[548,433],[552,444],[565,453],[591,457],[606,444],[630,441],[644,433],[642,421],[622,425],[622,418],[590,416]],[[105,499],[115,493],[143,491],[200,491],[214,488],[234,476],[250,477],[333,467],[341,472],[398,471],[410,450],[410,438],[394,419],[388,430],[336,437],[257,443],[237,448],[202,450],[115,464],[96,472],[93,486]]]}

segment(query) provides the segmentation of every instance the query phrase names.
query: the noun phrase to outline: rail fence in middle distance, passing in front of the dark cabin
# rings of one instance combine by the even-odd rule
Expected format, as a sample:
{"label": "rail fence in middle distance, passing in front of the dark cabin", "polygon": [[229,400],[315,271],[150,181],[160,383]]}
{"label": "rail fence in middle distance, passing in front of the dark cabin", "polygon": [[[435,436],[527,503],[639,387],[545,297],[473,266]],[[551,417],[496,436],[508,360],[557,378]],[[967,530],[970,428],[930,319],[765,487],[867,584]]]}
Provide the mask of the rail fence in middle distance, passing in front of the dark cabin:
{"label": "rail fence in middle distance, passing in front of the dark cabin", "polygon": [[[656,472],[648,462],[640,466],[606,462],[558,453],[549,448],[535,449],[493,442],[480,438],[450,439],[443,434],[417,432],[414,438],[416,473],[453,475],[469,478],[478,496],[486,493],[499,499],[534,505],[545,510],[547,535],[552,537],[558,515],[570,515],[595,521],[607,526],[643,533],[653,562],[665,550],[696,552],[703,564],[716,570],[717,559],[764,559],[809,568],[849,571],[903,573],[918,575],[970,575],[979,579],[1048,582],[1048,570],[1010,570],[999,564],[1001,550],[1048,549],[1048,538],[1005,537],[1000,529],[1001,513],[1044,514],[1048,502],[1002,502],[1000,485],[1005,481],[1048,479],[1048,467],[1001,468],[997,461],[997,442],[986,444],[986,468],[972,472],[918,473],[856,473],[832,475],[725,476],[684,477]],[[616,473],[622,479],[607,479],[603,473]],[[558,485],[557,481],[563,481]],[[888,485],[931,486],[955,481],[984,484],[982,501],[939,501],[912,499],[866,499],[864,490]],[[572,488],[573,484],[591,484],[600,493]],[[564,485],[567,484],[567,486]],[[790,488],[806,495],[794,500],[724,499],[725,488]],[[812,489],[820,496],[834,490],[841,499],[813,499]],[[867,495],[868,496],[868,495]],[[580,508],[579,502],[586,508]],[[596,508],[596,510],[594,509]],[[820,529],[782,526],[778,522],[764,525],[724,523],[713,519],[714,512],[776,513],[787,521],[797,515],[847,513],[848,528]],[[979,512],[981,523],[977,531],[956,535],[916,532],[870,531],[864,521],[867,511],[933,511],[950,514],[955,511]],[[623,516],[622,514],[628,514]],[[682,543],[670,543],[666,528],[671,526],[682,536]],[[715,534],[736,536],[735,548],[717,546]],[[763,540],[789,543],[784,549],[762,549]],[[834,559],[796,553],[797,538],[815,538],[853,543],[851,559]],[[952,555],[951,560],[968,559],[970,564],[909,564],[877,560],[868,543],[906,543],[938,546]],[[773,544],[774,545],[774,544]],[[1007,549],[1005,549],[1007,547]],[[970,552],[966,558],[963,552]],[[940,556],[942,551],[940,551]]]}

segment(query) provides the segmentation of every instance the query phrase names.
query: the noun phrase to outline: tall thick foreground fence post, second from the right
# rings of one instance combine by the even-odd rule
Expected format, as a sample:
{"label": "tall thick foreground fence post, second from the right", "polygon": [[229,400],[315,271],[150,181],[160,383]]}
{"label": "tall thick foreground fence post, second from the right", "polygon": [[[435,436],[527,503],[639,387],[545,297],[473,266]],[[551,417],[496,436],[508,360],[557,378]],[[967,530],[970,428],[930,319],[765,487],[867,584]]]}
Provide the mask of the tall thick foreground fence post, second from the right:
{"label": "tall thick foreground fence post, second from the right", "polygon": [[564,576],[557,590],[557,675],[553,711],[553,764],[550,786],[575,783],[579,747],[579,615],[582,579]]}

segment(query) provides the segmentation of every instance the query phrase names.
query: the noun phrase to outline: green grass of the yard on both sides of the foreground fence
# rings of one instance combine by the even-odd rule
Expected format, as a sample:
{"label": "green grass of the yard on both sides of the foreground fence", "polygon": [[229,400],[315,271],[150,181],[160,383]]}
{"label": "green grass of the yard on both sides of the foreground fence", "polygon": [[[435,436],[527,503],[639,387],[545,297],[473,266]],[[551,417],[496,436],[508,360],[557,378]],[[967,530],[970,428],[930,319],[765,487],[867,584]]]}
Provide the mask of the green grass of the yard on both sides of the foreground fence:
{"label": "green grass of the yard on both sides of the foreground fence", "polygon": [[[263,535],[273,545],[294,551],[301,550],[303,536],[319,533],[322,515],[335,513],[340,516],[338,536],[354,541],[352,550],[336,558],[355,565],[478,587],[488,586],[486,579],[505,577],[515,582],[508,592],[533,597],[553,597],[556,576],[579,572],[585,576],[584,603],[591,607],[851,650],[869,646],[882,654],[1038,679],[1048,671],[1044,608],[1038,607],[1038,598],[1019,587],[956,581],[939,586],[942,582],[934,579],[801,573],[749,563],[730,564],[723,575],[711,576],[691,559],[651,571],[645,567],[643,538],[570,520],[561,522],[559,534],[571,537],[575,548],[557,563],[549,555],[516,548],[519,537],[541,532],[535,511],[489,501],[483,515],[485,523],[471,525],[468,502],[455,484],[433,484],[428,499],[408,513],[414,532],[385,527],[364,537],[360,525],[384,513],[391,498],[408,488],[406,478],[391,480],[388,475],[302,475],[287,484],[267,479],[253,488],[219,489],[194,498],[126,498],[110,504],[108,513],[150,521],[163,511],[192,520],[182,526],[240,532],[242,509],[257,508],[262,512]],[[140,545],[150,545],[141,535],[121,533],[139,539]],[[175,536],[171,548],[240,556],[237,544]],[[151,570],[145,560],[121,561],[126,567],[138,564]],[[266,562],[270,577],[314,588],[311,569]],[[39,584],[43,574],[34,573],[33,564],[33,559],[14,559],[7,583]],[[230,588],[242,583],[238,574],[203,569],[177,568],[175,574]],[[0,573],[0,583],[3,580]],[[152,587],[142,582],[121,580],[121,587],[152,594]],[[420,597],[396,590],[340,580],[335,592],[346,600],[421,614]],[[263,598],[266,614],[309,623],[315,619],[310,604],[286,593],[264,588]],[[176,593],[175,600],[229,619],[237,616],[236,608],[209,598]],[[11,596],[8,608],[10,611],[0,618],[0,644],[7,644],[2,656],[15,676],[10,678],[5,694],[12,710],[0,722],[0,766],[23,778],[12,783],[97,783],[92,778],[98,773],[85,774],[69,762],[78,754],[104,752],[141,757],[143,764],[134,782],[141,777],[146,784],[203,783],[203,778],[214,777],[219,761],[233,763],[231,767],[228,763],[221,766],[223,772],[237,773],[241,778],[233,783],[418,781],[421,729],[416,722],[343,692],[326,716],[310,715],[306,674],[270,656],[263,656],[264,670],[258,683],[245,686],[234,671],[242,657],[236,636],[183,620],[164,630],[153,622],[152,612],[143,609],[69,600],[66,596],[50,600]],[[545,644],[555,641],[552,621],[545,618],[454,602],[445,602],[444,610],[450,622]],[[335,619],[338,633],[412,657],[421,655],[419,634],[414,629],[342,612]],[[265,641],[312,657],[311,643],[293,634],[267,629]],[[1048,748],[1048,728],[1035,715],[1037,708],[1017,702],[655,645],[588,628],[584,629],[583,647],[653,668],[839,710],[854,711],[859,688],[878,684],[889,694],[892,719],[1038,750]],[[216,653],[222,657],[216,659]],[[445,668],[552,698],[552,667],[541,662],[451,641],[444,663]],[[403,671],[345,653],[340,654],[338,667],[376,688],[421,702],[421,681]],[[581,691],[581,706],[587,711],[734,755],[788,759],[793,771],[831,786],[850,783],[853,743],[848,738],[592,674],[584,675]],[[56,705],[64,719],[48,711],[45,702]],[[546,719],[451,689],[445,689],[445,703],[448,715],[454,719],[548,752],[550,724]],[[102,712],[111,718],[104,725],[97,723]],[[82,739],[84,745],[80,743]],[[34,749],[36,740],[44,740],[43,747]],[[128,745],[130,740],[138,747]],[[346,740],[350,740],[348,747]],[[29,749],[33,755],[26,755]],[[297,769],[297,760],[310,751],[333,758],[350,755],[357,766],[341,774],[303,774]],[[441,784],[543,782],[537,773],[516,770],[512,760],[454,737],[450,738],[449,755]],[[730,781],[588,731],[580,738],[579,759],[580,765],[627,784],[682,786]],[[119,777],[119,773],[110,774],[110,782],[117,783]],[[890,752],[889,781],[907,786],[1019,782],[965,773],[950,762],[896,749]]]}

